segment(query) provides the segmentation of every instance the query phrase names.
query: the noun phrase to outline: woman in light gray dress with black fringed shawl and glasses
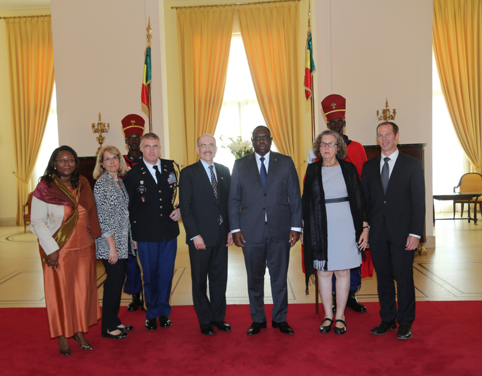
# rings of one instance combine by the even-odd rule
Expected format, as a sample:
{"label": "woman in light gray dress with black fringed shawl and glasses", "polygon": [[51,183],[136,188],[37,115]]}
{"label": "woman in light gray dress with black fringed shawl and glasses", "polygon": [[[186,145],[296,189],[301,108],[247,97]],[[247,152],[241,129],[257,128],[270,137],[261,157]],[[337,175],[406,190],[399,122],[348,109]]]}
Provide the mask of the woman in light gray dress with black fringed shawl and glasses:
{"label": "woman in light gray dress with black fringed shawl and glasses", "polygon": [[311,275],[316,270],[318,275],[324,309],[321,333],[328,333],[333,324],[331,279],[335,274],[334,332],[344,334],[350,269],[360,266],[361,252],[368,243],[365,197],[356,167],[343,160],[347,146],[337,132],[322,132],[313,151],[320,160],[306,170],[302,197],[305,273]]}

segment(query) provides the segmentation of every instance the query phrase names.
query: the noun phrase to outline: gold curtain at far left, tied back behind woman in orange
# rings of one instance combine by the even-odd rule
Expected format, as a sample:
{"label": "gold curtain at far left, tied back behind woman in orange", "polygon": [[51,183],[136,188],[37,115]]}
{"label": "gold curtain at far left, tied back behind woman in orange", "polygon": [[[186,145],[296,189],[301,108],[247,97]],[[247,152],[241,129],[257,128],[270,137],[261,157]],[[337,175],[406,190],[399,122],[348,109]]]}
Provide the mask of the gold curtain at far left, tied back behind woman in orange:
{"label": "gold curtain at far left, tied back behind woman in orange", "polygon": [[5,18],[10,114],[17,176],[17,225],[32,190],[30,179],[42,143],[54,87],[50,16]]}

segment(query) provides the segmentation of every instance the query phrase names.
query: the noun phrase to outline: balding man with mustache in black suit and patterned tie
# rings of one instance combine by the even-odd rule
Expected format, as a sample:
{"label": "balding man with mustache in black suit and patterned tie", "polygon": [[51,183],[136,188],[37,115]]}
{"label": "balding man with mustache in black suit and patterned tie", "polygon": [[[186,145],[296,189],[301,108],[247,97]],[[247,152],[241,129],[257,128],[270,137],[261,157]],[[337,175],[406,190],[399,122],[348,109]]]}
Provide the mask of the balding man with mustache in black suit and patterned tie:
{"label": "balding man with mustache in black suit and patterned tie", "polygon": [[[197,139],[200,160],[181,170],[180,209],[191,260],[193,303],[201,333],[228,332],[225,322],[227,246],[232,244],[227,214],[231,175],[214,162],[218,147],[213,136]],[[209,277],[209,298],[207,279]]]}

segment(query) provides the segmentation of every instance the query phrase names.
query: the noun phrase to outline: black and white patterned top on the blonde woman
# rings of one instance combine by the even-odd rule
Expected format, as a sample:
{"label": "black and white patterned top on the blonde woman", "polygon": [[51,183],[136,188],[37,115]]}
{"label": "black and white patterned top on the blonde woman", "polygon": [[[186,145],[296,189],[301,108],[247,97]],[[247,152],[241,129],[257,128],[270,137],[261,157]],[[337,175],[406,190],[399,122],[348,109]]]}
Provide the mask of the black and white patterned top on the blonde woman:
{"label": "black and white patterned top on the blonde woman", "polygon": [[129,242],[131,254],[135,255],[130,233],[129,196],[121,179],[119,183],[122,189],[111,174],[104,172],[94,186],[97,215],[102,230],[102,235],[96,239],[97,259],[109,258],[109,246],[105,240],[109,236],[114,236],[119,259],[127,259]]}

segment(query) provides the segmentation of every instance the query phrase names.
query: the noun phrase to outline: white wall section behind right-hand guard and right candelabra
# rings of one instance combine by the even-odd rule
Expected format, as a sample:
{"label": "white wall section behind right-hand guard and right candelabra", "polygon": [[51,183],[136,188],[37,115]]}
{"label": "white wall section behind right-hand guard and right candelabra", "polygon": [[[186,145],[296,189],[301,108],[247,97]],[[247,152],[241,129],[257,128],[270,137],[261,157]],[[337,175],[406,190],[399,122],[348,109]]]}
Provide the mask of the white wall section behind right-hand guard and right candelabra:
{"label": "white wall section behind right-hand guard and right candelabra", "polygon": [[399,143],[427,144],[426,234],[431,237],[432,1],[318,0],[314,13],[318,125],[325,127],[321,99],[343,95],[346,134],[376,145],[376,111],[388,98],[397,111]]}

